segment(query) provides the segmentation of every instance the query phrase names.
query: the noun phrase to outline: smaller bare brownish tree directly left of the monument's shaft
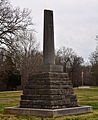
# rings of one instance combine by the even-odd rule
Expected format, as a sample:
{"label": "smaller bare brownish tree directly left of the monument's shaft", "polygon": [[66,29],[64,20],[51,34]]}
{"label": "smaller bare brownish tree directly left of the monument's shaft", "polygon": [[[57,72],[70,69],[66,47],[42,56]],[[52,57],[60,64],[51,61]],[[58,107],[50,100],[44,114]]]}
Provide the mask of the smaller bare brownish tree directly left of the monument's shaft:
{"label": "smaller bare brownish tree directly left of the monument's shaft", "polygon": [[[20,55],[18,60],[18,68],[20,68],[22,76],[22,87],[24,88],[29,76],[35,72],[36,66],[42,63],[42,54],[38,51],[39,43],[35,39],[32,31],[24,31],[21,33],[21,37],[18,37],[20,41]],[[26,74],[25,74],[26,73]]]}

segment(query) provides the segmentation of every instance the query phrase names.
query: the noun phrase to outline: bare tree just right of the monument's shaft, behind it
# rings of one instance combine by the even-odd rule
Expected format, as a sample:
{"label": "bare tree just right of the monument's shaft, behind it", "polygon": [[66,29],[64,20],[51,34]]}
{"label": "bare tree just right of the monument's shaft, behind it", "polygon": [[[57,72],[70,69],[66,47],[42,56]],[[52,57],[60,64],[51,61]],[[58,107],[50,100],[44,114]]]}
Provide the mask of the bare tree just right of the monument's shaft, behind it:
{"label": "bare tree just right of the monument's shaft, behind it", "polygon": [[83,58],[78,56],[72,48],[62,47],[57,51],[56,63],[64,66],[64,72],[68,72],[74,86],[81,83],[81,64]]}

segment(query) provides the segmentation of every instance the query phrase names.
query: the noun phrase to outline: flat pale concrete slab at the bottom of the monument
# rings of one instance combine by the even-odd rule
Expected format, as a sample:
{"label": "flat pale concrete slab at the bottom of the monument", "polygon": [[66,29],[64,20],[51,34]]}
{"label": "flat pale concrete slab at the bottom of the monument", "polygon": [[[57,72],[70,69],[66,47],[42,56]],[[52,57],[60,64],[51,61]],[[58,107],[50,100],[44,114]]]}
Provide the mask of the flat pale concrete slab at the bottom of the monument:
{"label": "flat pale concrete slab at the bottom of the monument", "polygon": [[75,115],[92,112],[92,107],[72,107],[63,109],[34,109],[34,108],[6,108],[5,114],[14,114],[20,116],[37,116],[37,117],[61,117],[65,115]]}

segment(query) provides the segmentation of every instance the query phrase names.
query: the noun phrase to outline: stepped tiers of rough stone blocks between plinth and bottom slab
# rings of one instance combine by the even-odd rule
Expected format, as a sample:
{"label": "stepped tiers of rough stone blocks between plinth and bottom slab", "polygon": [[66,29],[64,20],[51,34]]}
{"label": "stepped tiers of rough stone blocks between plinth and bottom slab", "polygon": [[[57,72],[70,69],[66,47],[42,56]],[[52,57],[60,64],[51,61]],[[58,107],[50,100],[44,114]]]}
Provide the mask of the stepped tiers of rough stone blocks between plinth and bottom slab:
{"label": "stepped tiers of rough stone blocks between plinth and bottom slab", "polygon": [[33,74],[21,96],[21,108],[61,109],[76,107],[72,83],[67,73]]}

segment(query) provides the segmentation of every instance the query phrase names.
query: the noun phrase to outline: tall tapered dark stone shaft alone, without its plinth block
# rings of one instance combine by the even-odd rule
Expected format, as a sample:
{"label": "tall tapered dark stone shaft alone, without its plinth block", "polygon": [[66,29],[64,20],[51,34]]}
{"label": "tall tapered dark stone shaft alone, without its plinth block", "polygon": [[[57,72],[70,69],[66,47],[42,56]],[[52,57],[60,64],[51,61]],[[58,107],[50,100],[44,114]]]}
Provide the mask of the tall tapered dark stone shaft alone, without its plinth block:
{"label": "tall tapered dark stone shaft alone, without its plinth block", "polygon": [[53,11],[44,10],[44,44],[43,44],[43,61],[44,64],[55,64],[54,53],[54,23]]}

